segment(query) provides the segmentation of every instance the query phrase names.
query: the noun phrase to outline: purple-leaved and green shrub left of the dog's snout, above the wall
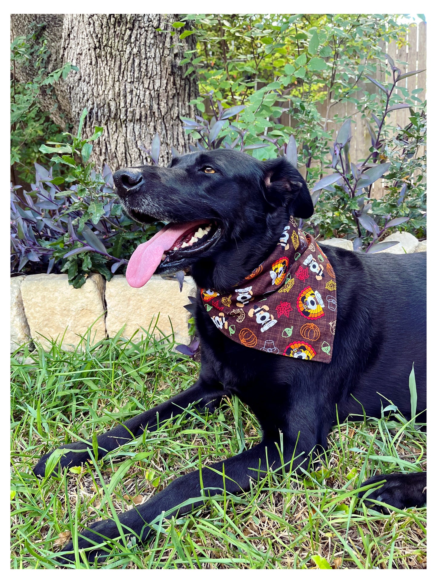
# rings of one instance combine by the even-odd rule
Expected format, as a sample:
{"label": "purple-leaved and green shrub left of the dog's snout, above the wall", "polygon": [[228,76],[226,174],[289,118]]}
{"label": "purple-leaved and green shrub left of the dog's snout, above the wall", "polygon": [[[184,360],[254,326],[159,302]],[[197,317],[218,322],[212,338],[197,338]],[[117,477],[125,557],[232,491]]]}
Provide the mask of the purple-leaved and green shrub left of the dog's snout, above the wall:
{"label": "purple-leaved and green shrub left of the dog's snout, above the wall", "polygon": [[109,281],[117,269],[125,271],[135,247],[156,232],[157,225],[140,225],[124,215],[110,168],[93,169],[92,142],[103,129],[82,139],[86,114],[77,136],[65,132],[69,141],[41,146],[44,153],[56,154],[52,162],[68,168],[65,178],[35,164],[32,190],[21,195],[20,186],[11,188],[12,273],[66,272],[74,287],[91,272]]}

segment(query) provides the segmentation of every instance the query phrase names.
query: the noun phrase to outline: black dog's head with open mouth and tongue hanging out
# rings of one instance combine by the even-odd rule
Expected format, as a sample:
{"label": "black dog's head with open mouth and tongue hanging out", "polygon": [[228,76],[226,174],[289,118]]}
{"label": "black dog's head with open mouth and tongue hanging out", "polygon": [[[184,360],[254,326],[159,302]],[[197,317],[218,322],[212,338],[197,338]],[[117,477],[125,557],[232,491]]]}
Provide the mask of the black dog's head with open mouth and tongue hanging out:
{"label": "black dog's head with open mouth and tongue hanging out", "polygon": [[199,286],[225,290],[272,252],[290,215],[313,213],[304,179],[283,157],[195,152],[167,168],[118,170],[114,181],[129,215],[170,223],[132,255],[126,276],[135,287],[154,272],[191,268]]}

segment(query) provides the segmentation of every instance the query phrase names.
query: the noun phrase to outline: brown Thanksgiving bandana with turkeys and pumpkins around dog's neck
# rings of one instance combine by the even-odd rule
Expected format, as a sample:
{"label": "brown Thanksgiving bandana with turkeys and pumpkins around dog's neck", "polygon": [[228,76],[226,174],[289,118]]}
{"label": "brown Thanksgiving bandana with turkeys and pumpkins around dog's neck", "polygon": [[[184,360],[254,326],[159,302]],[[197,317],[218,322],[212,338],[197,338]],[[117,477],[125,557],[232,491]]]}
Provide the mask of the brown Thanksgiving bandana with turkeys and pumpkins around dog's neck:
{"label": "brown Thanksgiving bandana with turkeys and pumpkins around dog's neck", "polygon": [[332,265],[293,217],[272,255],[231,293],[201,289],[205,308],[225,336],[244,346],[329,363],[336,330]]}

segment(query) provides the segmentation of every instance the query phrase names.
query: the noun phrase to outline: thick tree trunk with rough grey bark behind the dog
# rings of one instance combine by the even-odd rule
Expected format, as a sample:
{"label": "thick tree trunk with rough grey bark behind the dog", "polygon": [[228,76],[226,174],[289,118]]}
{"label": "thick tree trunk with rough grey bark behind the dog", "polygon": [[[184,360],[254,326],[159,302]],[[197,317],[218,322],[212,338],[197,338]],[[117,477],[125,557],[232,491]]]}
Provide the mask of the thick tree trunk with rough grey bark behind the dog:
{"label": "thick tree trunk with rough grey bark behind the dog", "polygon": [[[156,31],[170,29],[177,15],[13,15],[13,34],[26,34],[33,20],[47,23],[48,70],[66,62],[79,67],[42,96],[44,107],[59,125],[75,128],[87,108],[83,135],[90,136],[96,125],[104,128],[93,147],[98,166],[106,162],[114,171],[150,163],[141,147],[150,149],[156,132],[160,163],[171,159],[171,146],[188,150],[179,118],[194,114],[188,102],[196,97],[197,84],[193,76],[184,77],[186,65],[179,62],[195,41],[193,36],[180,40],[178,31],[174,36]],[[27,68],[22,75],[30,73]]]}

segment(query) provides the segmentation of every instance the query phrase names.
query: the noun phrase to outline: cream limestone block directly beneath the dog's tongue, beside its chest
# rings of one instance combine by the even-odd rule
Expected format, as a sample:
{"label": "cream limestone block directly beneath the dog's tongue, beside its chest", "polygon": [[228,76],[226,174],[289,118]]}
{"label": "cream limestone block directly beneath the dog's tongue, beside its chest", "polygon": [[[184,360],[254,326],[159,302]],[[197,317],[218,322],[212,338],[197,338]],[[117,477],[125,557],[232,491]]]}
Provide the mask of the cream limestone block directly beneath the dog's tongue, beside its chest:
{"label": "cream limestone block directly beneath the dog's tongue, beside its chest", "polygon": [[134,339],[139,340],[142,335],[145,336],[141,328],[148,330],[150,327],[151,331],[159,314],[154,336],[163,338],[171,335],[172,325],[176,342],[187,344],[190,314],[184,305],[190,303],[188,296],[196,296],[196,285],[192,278],[185,278],[181,292],[176,280],[163,279],[159,275],[151,276],[146,285],[139,288],[129,286],[123,275],[115,275],[107,282],[105,290],[108,336],[112,338],[125,325],[123,338],[131,338],[139,329],[134,336]]}

